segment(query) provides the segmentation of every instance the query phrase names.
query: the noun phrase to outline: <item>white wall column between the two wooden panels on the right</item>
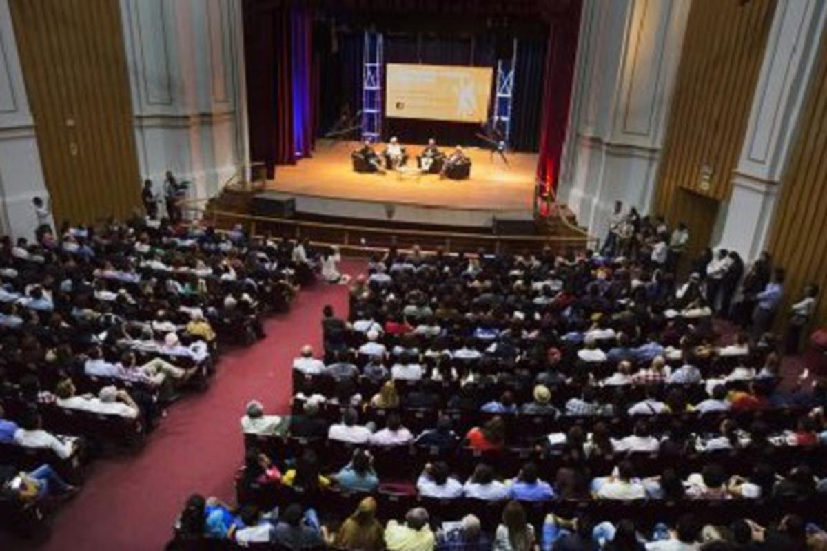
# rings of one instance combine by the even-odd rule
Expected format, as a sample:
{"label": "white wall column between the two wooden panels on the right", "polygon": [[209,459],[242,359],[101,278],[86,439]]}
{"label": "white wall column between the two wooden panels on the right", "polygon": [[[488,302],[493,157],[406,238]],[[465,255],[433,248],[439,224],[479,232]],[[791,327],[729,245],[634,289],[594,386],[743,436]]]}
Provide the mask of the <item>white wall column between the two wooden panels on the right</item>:
{"label": "white wall column between the two wooden panels on the right", "polygon": [[779,0],[776,7],[718,244],[746,260],[766,245],[825,19],[823,0]]}

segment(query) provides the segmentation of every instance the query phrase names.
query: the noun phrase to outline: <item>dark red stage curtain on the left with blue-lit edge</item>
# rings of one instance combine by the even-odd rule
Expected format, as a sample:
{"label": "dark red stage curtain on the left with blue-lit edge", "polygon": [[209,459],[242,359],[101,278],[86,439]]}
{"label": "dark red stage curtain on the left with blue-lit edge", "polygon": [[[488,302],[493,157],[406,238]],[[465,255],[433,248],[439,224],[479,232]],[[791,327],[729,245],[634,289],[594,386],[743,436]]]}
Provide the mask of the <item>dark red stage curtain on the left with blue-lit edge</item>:
{"label": "dark red stage curtain on the left with blue-lit edge", "polygon": [[242,11],[250,154],[272,178],[275,164],[295,163],[313,149],[313,12],[257,0],[245,0]]}

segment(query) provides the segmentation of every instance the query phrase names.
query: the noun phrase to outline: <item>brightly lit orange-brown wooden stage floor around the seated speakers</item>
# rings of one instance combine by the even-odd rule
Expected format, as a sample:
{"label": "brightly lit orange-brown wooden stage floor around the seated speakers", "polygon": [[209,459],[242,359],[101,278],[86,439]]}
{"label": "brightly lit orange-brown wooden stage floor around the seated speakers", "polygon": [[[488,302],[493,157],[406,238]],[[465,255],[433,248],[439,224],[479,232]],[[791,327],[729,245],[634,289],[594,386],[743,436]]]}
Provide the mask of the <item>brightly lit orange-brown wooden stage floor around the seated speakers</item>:
{"label": "brightly lit orange-brown wooden stage floor around the seated speakers", "polygon": [[[466,148],[471,157],[471,178],[439,179],[438,174],[360,174],[353,172],[351,150],[358,142],[318,140],[313,157],[298,164],[279,165],[267,190],[337,197],[361,201],[396,202],[426,207],[531,211],[537,154],[511,153],[509,165],[492,159],[488,150]],[[416,166],[422,145],[407,145],[409,165]],[[383,144],[375,146],[377,152]],[[450,148],[443,148],[448,153]]]}

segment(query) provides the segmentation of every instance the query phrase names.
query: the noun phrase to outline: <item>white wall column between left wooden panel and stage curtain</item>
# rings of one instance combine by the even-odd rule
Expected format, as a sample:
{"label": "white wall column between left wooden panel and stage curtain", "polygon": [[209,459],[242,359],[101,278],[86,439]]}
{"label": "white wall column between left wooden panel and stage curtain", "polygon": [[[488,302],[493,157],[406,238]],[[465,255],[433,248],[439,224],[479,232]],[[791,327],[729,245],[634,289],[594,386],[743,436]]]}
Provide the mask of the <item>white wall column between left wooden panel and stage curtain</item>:
{"label": "white wall column between left wooden panel and stage curtain", "polygon": [[234,0],[121,0],[138,162],[212,197],[246,158],[243,36]]}

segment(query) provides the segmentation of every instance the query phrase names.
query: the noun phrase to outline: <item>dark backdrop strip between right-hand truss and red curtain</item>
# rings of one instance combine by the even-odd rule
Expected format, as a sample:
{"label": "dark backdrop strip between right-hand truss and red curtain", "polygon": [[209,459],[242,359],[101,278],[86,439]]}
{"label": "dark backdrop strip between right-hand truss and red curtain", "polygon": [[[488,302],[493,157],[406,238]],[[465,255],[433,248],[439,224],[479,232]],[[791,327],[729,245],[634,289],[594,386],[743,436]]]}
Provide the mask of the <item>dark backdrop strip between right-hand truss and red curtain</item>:
{"label": "dark backdrop strip between right-hand truss and red curtain", "polygon": [[537,151],[540,119],[543,116],[543,82],[546,70],[547,40],[517,41],[517,64],[511,97],[511,149]]}

